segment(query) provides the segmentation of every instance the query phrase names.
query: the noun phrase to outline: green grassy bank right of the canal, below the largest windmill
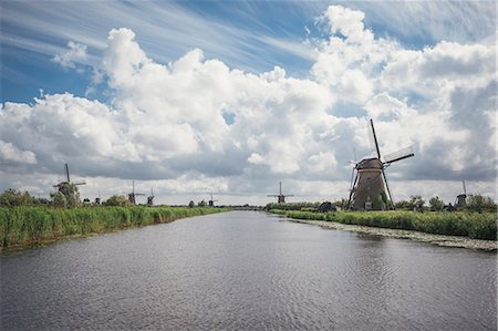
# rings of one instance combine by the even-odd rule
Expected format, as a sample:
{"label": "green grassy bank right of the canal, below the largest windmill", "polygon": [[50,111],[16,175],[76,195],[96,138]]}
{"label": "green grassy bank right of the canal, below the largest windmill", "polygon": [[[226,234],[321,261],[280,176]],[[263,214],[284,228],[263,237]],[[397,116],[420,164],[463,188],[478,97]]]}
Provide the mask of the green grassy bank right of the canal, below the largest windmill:
{"label": "green grassy bank right of the canal, below the largest windmill", "polygon": [[347,225],[415,230],[433,235],[465,236],[471,239],[497,239],[497,215],[492,213],[311,213],[280,209],[271,209],[270,213],[297,219],[338,221]]}

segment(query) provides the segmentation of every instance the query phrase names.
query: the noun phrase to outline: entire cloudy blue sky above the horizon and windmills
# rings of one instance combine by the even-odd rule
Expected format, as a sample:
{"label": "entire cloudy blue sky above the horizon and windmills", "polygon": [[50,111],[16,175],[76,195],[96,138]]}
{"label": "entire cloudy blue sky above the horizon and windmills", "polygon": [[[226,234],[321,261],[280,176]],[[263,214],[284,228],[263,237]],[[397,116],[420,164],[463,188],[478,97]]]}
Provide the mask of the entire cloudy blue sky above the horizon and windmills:
{"label": "entire cloudy blue sky above the horizon and windmills", "polygon": [[[496,198],[494,1],[2,1],[0,190],[157,204]],[[138,198],[138,203],[141,201]]]}

